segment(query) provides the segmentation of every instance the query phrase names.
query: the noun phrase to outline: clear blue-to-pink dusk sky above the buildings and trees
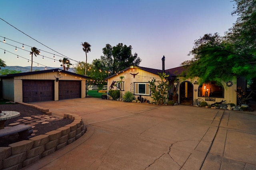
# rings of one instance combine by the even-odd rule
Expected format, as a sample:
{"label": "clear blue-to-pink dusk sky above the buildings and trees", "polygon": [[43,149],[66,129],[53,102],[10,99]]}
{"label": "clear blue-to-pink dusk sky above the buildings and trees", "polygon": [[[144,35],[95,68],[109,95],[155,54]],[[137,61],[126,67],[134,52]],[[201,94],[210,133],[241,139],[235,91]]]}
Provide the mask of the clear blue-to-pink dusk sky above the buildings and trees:
{"label": "clear blue-to-pink dusk sky above the buildings and trees", "polygon": [[[231,0],[1,0],[0,18],[51,49],[85,61],[81,43],[92,45],[88,63],[100,59],[106,44],[132,46],[142,59],[140,66],[162,69],[189,60],[194,41],[206,33],[224,35],[236,21]],[[33,66],[60,67],[60,55],[0,20],[0,59],[7,66],[30,66],[31,47],[42,52]],[[6,43],[3,43],[6,37]],[[8,39],[24,44],[15,43]],[[10,45],[14,45],[10,46]],[[4,54],[6,50],[6,54]],[[14,53],[9,53],[8,51]],[[20,56],[17,59],[17,55]],[[61,55],[60,55],[61,56]],[[24,57],[25,59],[23,59]],[[48,59],[47,57],[51,58]],[[74,61],[73,61],[74,60]],[[4,69],[4,68],[2,68]]]}

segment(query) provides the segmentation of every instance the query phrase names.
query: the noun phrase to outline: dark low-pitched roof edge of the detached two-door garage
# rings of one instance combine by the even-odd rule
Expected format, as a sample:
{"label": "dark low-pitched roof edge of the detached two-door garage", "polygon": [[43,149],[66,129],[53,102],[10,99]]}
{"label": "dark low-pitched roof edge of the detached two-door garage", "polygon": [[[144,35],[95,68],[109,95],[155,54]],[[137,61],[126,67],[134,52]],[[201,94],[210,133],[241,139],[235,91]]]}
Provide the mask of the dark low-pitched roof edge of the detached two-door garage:
{"label": "dark low-pitched roof edge of the detached two-door garage", "polygon": [[47,72],[62,72],[62,73],[71,74],[71,75],[74,75],[74,76],[80,76],[82,78],[90,78],[88,76],[83,76],[83,75],[80,75],[80,74],[76,74],[74,72],[61,70],[59,68],[50,69],[50,70],[32,71],[32,72],[21,72],[21,73],[15,73],[15,74],[6,74],[6,75],[0,75],[0,77],[1,78],[7,78],[7,77],[10,78],[10,77],[15,77],[15,76],[27,76],[27,75],[41,74],[41,73],[47,73]]}

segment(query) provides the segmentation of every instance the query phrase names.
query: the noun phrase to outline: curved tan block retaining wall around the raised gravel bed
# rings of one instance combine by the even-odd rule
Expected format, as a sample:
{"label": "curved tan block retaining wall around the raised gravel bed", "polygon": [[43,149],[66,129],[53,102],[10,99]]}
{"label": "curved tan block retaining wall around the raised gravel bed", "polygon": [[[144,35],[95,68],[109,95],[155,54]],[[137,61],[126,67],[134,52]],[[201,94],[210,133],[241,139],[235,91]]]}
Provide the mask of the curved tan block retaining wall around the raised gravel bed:
{"label": "curved tan block retaining wall around the raised gravel bed", "polygon": [[[32,104],[20,104],[41,109],[47,115],[51,114],[49,109]],[[82,117],[67,113],[64,114],[64,118],[72,119],[73,122],[44,135],[38,135],[29,140],[12,143],[8,147],[0,147],[0,170],[21,169],[65,147],[84,135],[86,127],[84,126]]]}

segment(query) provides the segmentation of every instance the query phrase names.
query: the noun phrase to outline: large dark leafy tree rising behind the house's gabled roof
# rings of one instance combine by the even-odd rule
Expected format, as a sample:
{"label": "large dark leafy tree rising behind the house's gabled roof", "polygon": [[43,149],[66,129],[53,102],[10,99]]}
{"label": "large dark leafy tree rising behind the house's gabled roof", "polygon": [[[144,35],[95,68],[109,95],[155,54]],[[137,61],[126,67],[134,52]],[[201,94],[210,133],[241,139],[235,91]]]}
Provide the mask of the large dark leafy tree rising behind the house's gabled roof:
{"label": "large dark leafy tree rising behind the house's gabled roof", "polygon": [[106,44],[106,47],[102,49],[104,56],[101,56],[98,61],[102,64],[102,69],[107,70],[110,74],[114,74],[120,70],[123,70],[131,65],[139,66],[141,59],[137,53],[132,55],[132,46],[118,45],[112,47],[110,44]]}

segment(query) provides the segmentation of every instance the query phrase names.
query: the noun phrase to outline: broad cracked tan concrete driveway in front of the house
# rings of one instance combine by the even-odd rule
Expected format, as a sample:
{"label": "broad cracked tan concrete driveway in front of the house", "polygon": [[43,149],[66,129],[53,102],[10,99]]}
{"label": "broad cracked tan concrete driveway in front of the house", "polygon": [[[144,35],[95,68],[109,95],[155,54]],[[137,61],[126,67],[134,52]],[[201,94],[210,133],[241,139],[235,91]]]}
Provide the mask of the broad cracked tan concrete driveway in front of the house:
{"label": "broad cracked tan concrete driveway in front of the house", "polygon": [[256,169],[256,115],[249,112],[97,98],[36,105],[57,115],[78,114],[88,129],[24,169]]}

